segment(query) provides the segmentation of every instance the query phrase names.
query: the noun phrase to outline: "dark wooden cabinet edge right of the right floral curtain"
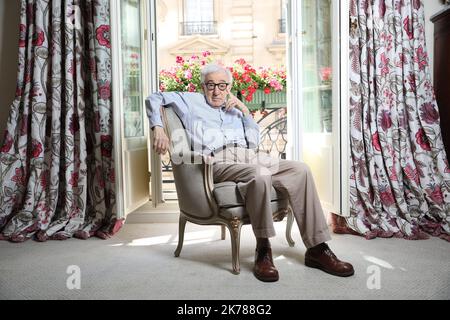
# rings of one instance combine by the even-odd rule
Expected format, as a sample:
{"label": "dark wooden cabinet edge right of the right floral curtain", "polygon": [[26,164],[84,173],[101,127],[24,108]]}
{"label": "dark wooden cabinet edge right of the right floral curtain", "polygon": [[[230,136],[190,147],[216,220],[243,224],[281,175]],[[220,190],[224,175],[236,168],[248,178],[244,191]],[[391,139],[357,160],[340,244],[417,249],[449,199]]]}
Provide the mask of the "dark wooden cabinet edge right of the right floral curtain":
{"label": "dark wooden cabinet edge right of the right floral curtain", "polygon": [[450,6],[433,17],[434,88],[441,116],[442,138],[450,157]]}

